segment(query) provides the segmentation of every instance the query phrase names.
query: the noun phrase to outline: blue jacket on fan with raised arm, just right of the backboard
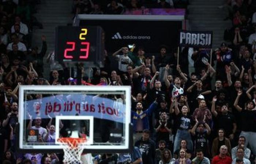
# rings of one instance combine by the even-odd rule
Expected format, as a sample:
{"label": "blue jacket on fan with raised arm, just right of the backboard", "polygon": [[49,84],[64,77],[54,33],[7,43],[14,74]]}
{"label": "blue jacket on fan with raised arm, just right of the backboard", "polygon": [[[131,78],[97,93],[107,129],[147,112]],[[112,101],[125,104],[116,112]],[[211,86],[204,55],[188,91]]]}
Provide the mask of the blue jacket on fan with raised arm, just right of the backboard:
{"label": "blue jacket on fan with raised arm, just right of the backboard", "polygon": [[150,115],[153,110],[157,108],[157,103],[153,102],[149,108],[145,111],[143,111],[141,114],[137,114],[137,112],[132,111],[131,112],[131,119],[132,119],[132,124],[133,124],[133,132],[136,131],[136,127],[137,127],[137,122],[138,119],[140,118],[143,122],[143,129],[149,129],[149,123],[148,123],[148,115]]}

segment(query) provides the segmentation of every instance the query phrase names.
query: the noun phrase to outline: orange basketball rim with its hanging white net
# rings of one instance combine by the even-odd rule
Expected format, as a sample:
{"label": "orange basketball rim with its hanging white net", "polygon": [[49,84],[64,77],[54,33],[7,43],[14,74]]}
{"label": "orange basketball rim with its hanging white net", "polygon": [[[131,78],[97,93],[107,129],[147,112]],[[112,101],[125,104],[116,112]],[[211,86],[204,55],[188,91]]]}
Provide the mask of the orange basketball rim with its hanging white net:
{"label": "orange basketball rim with its hanging white net", "polygon": [[81,154],[85,147],[84,143],[87,141],[86,138],[69,138],[62,137],[58,138],[58,141],[63,145],[64,160],[65,164],[82,164]]}

